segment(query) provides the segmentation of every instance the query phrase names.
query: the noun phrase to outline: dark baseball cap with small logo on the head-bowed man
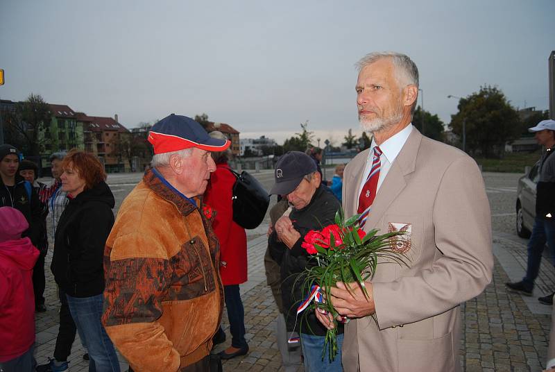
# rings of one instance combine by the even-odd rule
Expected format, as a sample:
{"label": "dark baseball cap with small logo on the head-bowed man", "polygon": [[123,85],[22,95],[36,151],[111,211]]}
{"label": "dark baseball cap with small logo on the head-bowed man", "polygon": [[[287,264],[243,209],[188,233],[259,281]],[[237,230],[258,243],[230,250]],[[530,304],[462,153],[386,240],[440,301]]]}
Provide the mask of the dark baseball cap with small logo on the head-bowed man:
{"label": "dark baseball cap with small logo on the head-bowed man", "polygon": [[275,164],[275,184],[270,194],[285,195],[297,188],[302,178],[315,172],[316,162],[300,151],[289,151]]}

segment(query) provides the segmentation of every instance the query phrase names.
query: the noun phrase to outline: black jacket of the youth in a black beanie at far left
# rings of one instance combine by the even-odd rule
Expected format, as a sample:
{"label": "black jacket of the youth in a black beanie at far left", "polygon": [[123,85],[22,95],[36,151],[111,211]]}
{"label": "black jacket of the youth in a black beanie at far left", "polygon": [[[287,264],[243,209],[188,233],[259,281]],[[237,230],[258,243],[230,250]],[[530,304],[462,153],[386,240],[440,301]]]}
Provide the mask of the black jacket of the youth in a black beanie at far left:
{"label": "black jacket of the youth in a black beanie at far left", "polygon": [[40,243],[40,226],[42,225],[42,206],[39,196],[35,189],[29,184],[31,189],[31,199],[25,187],[28,183],[19,174],[15,175],[15,189],[10,193],[8,187],[4,185],[0,178],[0,207],[12,207],[22,212],[29,224],[29,228],[24,231],[22,237],[30,237],[34,246]]}

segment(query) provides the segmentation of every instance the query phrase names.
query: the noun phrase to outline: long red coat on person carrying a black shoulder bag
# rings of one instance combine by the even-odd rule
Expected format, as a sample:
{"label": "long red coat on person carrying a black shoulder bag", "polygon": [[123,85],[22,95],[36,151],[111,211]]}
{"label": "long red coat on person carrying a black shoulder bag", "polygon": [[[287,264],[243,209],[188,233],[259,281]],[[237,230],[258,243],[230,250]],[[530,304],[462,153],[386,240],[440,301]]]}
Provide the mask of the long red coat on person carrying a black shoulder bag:
{"label": "long red coat on person carrying a black shoulder bag", "polygon": [[216,210],[214,232],[220,241],[220,275],[223,285],[247,281],[247,236],[233,221],[232,188],[235,176],[227,163],[216,164],[204,194],[204,203]]}

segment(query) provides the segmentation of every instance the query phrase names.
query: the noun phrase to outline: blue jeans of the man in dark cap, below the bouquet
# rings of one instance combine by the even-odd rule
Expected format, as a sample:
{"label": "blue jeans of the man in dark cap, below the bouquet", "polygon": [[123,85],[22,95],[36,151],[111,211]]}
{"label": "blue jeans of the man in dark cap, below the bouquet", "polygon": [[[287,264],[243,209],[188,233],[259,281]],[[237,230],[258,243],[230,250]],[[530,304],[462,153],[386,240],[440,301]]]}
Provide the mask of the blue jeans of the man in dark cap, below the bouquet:
{"label": "blue jeans of the man in dark cap, below the bouquet", "polygon": [[343,333],[337,335],[337,355],[333,362],[330,362],[329,345],[325,346],[324,360],[322,360],[322,350],[324,348],[325,337],[300,335],[300,346],[302,355],[305,357],[305,372],[341,372],[341,346],[343,346]]}

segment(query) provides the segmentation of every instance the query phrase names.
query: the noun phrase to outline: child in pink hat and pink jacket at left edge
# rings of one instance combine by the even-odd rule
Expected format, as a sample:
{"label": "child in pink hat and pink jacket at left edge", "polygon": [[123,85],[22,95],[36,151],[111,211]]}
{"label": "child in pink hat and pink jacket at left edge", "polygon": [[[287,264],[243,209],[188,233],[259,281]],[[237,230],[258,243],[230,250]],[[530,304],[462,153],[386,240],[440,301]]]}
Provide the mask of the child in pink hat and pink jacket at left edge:
{"label": "child in pink hat and pink jacket at left edge", "polygon": [[22,233],[22,212],[0,208],[0,371],[35,371],[33,267],[39,251]]}

